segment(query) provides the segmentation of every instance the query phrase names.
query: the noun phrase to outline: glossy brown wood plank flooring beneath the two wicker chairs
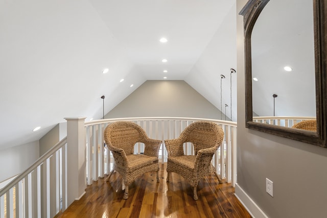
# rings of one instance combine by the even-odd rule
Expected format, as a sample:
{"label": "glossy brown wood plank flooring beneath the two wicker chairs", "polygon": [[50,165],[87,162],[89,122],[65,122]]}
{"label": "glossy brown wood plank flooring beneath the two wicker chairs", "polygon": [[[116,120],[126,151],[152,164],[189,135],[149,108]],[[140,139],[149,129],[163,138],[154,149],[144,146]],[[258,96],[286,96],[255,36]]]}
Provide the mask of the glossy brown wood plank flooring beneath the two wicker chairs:
{"label": "glossy brown wood plank flooring beneath the two wicker chairs", "polygon": [[85,195],[74,201],[62,217],[251,217],[235,197],[235,189],[226,182],[219,184],[212,174],[198,185],[197,201],[193,189],[178,174],[166,182],[166,164],[161,164],[160,182],[156,173],[147,173],[129,186],[129,198],[123,199],[122,177],[114,172],[87,186]]}

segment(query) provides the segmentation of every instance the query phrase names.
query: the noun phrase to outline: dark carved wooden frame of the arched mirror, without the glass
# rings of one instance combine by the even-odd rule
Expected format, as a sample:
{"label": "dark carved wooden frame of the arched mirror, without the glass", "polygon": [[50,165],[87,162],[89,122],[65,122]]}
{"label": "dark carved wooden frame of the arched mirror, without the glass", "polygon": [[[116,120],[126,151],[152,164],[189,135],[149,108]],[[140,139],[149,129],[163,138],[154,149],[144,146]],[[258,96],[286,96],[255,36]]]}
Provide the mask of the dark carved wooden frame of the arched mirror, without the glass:
{"label": "dark carved wooden frame of the arched mirror, without the glass", "polygon": [[327,11],[326,1],[327,0],[313,0],[317,132],[253,122],[251,34],[256,20],[258,19],[260,13],[267,5],[269,0],[249,0],[239,13],[240,15],[243,15],[244,19],[246,128],[327,148],[327,20],[325,19],[325,11]]}

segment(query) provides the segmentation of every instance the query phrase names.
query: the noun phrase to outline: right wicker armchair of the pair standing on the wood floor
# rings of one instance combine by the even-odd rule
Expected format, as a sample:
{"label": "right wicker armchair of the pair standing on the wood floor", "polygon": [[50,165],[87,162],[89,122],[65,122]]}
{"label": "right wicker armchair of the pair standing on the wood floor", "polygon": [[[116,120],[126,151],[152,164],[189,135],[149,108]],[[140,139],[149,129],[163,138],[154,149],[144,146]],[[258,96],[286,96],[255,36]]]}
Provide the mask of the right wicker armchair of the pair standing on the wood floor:
{"label": "right wicker armchair of the pair standing on the wood floor", "polygon": [[[186,127],[177,139],[165,140],[168,152],[167,182],[170,173],[181,175],[193,187],[194,200],[198,200],[196,189],[203,177],[215,173],[221,183],[222,180],[211,161],[223,138],[224,132],[219,125],[199,121]],[[196,155],[184,155],[185,142],[193,143]]]}

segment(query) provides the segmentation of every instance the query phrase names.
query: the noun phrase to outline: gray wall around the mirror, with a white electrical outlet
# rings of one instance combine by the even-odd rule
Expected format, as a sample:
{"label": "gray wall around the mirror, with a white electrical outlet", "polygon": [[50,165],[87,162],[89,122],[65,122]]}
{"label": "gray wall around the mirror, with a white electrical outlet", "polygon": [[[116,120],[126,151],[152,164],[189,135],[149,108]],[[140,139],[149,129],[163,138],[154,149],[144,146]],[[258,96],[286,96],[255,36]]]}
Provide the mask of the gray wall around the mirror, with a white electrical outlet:
{"label": "gray wall around the mirror, with a white electrical outlet", "polygon": [[[237,13],[246,2],[237,1]],[[269,217],[327,217],[327,149],[245,128],[243,17],[237,16],[238,185]]]}

